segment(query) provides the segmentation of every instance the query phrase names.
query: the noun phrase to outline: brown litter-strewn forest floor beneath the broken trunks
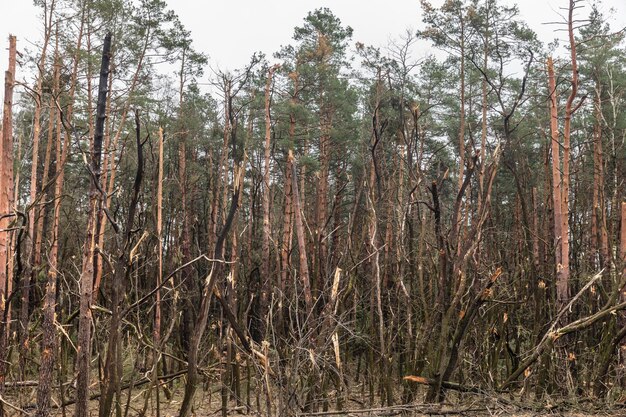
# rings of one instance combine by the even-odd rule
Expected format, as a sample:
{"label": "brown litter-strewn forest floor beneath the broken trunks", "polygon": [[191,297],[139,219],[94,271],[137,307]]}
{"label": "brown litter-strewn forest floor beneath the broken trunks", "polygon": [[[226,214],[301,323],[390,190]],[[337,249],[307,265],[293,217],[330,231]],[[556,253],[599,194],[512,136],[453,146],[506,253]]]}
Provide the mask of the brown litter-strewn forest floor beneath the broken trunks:
{"label": "brown litter-strewn forest floor beneath the broken trunks", "polygon": [[[178,384],[177,384],[178,385]],[[176,386],[172,392],[172,396],[167,399],[161,392],[160,410],[161,417],[176,417],[180,409],[182,401],[182,385]],[[20,392],[9,389],[6,392],[6,402],[14,406],[5,405],[8,416],[27,416],[34,414],[35,388],[22,388]],[[261,416],[266,415],[258,410],[265,410],[265,398],[260,397],[252,392],[250,398],[242,399],[242,403],[237,405],[236,402],[229,403],[228,415],[231,416]],[[141,411],[145,404],[145,390],[136,389],[131,391],[130,398],[128,391],[123,394],[124,404],[120,411],[121,416],[134,417],[142,415]],[[130,400],[130,401],[129,401]],[[295,416],[301,417],[361,417],[361,416],[446,416],[446,417],[482,417],[482,416],[511,416],[511,417],[608,417],[623,416],[626,417],[626,404],[600,404],[590,401],[589,399],[566,400],[549,398],[542,401],[527,400],[520,402],[512,400],[506,396],[476,396],[468,394],[449,395],[449,402],[442,405],[423,404],[416,401],[412,404],[395,405],[395,406],[370,406],[362,401],[359,396],[349,397],[348,401],[343,405],[342,411],[333,410],[332,406],[327,411],[317,411],[309,413],[297,413]],[[246,406],[245,404],[248,404]],[[30,404],[29,406],[24,404]],[[56,412],[54,417],[70,417],[74,414],[74,406],[68,405],[65,408],[59,407],[55,401]],[[276,405],[276,404],[275,404]],[[20,409],[20,406],[23,407]],[[93,410],[90,415],[98,415],[98,401],[93,400],[90,403]],[[115,414],[115,412],[114,412]],[[146,417],[156,416],[157,410],[155,401],[151,399],[146,408]],[[291,416],[292,414],[285,414]],[[199,389],[196,394],[194,407],[194,417],[219,417],[221,416],[221,397],[219,387],[214,385],[207,390]]]}

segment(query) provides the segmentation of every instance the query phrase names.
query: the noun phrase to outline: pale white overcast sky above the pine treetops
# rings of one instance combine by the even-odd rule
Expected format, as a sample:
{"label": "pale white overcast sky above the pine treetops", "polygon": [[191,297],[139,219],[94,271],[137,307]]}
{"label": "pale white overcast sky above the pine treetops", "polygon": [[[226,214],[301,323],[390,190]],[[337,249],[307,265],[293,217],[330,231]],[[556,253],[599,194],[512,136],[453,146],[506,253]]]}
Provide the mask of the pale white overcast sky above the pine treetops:
{"label": "pale white overcast sky above the pine treetops", "polygon": [[[512,0],[501,0],[512,4]],[[280,45],[291,42],[293,28],[302,24],[307,12],[328,7],[344,25],[354,29],[354,41],[367,45],[385,46],[407,28],[417,29],[421,24],[419,0],[167,0],[170,8],[191,30],[196,49],[210,57],[210,65],[221,69],[235,69],[245,65],[255,51],[262,51],[271,59]],[[433,0],[435,5],[443,0]],[[17,36],[18,50],[32,49],[32,42],[41,38],[41,20],[32,0],[0,0],[0,69],[7,67],[7,37]],[[556,32],[554,25],[546,25],[565,14],[568,0],[519,0],[521,17],[537,32],[544,43],[560,38],[565,32]],[[578,11],[585,18],[590,0],[582,0],[585,7]],[[614,12],[610,9],[614,8]],[[613,19],[611,27],[626,26],[626,0],[604,0],[601,7]],[[418,45],[417,57],[428,51]],[[18,74],[18,79],[21,78]]]}

